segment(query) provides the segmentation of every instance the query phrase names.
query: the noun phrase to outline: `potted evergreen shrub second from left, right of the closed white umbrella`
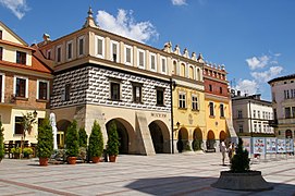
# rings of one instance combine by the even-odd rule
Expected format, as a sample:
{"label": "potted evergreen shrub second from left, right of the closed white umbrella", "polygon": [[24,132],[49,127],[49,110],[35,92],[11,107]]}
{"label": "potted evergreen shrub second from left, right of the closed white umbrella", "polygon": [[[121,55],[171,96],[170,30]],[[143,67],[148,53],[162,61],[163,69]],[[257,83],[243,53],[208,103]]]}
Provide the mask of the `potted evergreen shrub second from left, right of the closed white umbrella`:
{"label": "potted evergreen shrub second from left, right of the closed white umbrella", "polygon": [[75,164],[78,156],[78,132],[77,122],[74,120],[66,130],[65,134],[65,148],[67,162]]}

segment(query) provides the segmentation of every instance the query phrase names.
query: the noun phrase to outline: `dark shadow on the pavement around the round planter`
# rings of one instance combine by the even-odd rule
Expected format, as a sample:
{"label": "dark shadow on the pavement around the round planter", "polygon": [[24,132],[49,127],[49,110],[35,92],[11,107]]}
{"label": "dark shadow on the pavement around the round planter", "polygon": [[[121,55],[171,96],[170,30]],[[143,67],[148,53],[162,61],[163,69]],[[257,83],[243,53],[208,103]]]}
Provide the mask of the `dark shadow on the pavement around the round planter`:
{"label": "dark shadow on the pavement around the round planter", "polygon": [[[218,189],[211,187],[217,177],[198,176],[172,176],[158,179],[139,179],[125,187],[150,195],[256,195],[257,192],[239,192],[230,189]],[[259,192],[258,195],[284,193],[284,196],[295,195],[295,185],[272,183],[272,191]],[[278,194],[276,194],[278,193]]]}

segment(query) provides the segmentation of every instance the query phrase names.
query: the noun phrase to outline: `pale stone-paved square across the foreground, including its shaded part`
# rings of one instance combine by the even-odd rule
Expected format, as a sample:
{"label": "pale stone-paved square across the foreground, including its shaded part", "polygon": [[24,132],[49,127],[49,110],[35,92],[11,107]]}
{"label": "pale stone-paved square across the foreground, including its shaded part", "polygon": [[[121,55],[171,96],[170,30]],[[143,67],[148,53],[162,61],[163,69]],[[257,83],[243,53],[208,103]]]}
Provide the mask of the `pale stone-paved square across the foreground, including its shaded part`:
{"label": "pale stone-paved square across the foreground, including its shaded part", "polygon": [[221,154],[122,155],[118,162],[39,167],[37,159],[3,159],[0,195],[295,195],[295,157],[256,160],[273,184],[268,192],[237,192],[210,186],[219,177]]}

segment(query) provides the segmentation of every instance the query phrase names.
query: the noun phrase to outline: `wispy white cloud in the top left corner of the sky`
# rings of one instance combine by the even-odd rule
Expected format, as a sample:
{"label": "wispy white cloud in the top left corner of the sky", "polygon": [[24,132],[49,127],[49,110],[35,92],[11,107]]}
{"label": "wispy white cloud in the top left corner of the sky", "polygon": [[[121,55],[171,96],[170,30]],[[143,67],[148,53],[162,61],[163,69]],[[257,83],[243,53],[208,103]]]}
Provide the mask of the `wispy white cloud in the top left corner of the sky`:
{"label": "wispy white cloud in the top left corner of the sky", "polygon": [[11,10],[19,20],[29,10],[26,0],[0,0],[0,3]]}

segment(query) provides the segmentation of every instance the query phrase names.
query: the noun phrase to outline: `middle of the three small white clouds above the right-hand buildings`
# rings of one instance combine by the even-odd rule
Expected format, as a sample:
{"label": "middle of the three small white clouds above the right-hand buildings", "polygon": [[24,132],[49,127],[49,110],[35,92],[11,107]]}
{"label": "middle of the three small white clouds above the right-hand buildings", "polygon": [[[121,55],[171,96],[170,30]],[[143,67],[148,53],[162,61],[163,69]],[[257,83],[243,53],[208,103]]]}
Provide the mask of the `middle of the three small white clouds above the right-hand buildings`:
{"label": "middle of the three small white clouds above the right-hand buildings", "polygon": [[267,83],[273,77],[276,77],[283,71],[282,66],[271,66],[263,72],[251,72],[251,76],[259,83]]}

